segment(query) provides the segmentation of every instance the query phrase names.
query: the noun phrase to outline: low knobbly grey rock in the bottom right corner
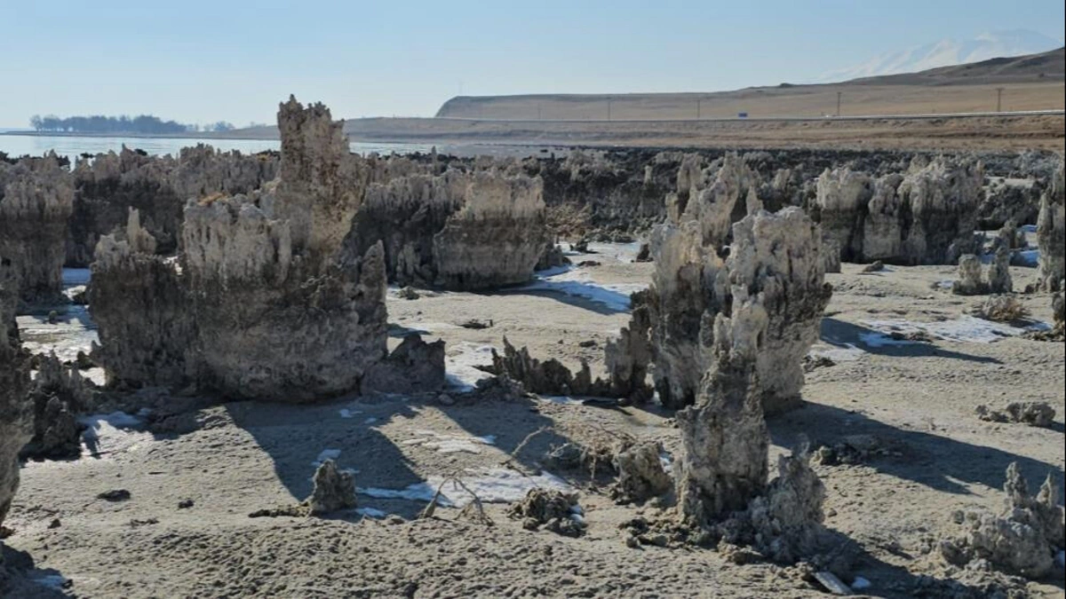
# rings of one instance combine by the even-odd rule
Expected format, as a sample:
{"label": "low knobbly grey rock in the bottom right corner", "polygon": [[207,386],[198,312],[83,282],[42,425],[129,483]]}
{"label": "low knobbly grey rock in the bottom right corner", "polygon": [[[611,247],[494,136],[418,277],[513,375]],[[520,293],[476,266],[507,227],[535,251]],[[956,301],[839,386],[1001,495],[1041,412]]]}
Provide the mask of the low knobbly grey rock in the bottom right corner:
{"label": "low knobbly grey rock in the bottom right corner", "polygon": [[940,543],[951,564],[987,560],[1010,573],[1040,579],[1054,569],[1054,555],[1063,550],[1064,516],[1059,486],[1051,475],[1034,497],[1029,495],[1018,464],[1006,469],[1006,506],[999,515],[980,511],[956,512],[963,531]]}

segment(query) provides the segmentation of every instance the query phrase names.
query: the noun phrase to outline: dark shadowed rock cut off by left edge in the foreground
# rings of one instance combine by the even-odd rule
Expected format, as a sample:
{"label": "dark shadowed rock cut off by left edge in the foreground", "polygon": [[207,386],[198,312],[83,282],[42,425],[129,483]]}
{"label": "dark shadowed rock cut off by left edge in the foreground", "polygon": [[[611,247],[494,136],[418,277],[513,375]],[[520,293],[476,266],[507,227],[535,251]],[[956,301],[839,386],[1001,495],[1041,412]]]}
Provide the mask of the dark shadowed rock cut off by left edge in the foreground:
{"label": "dark shadowed rock cut off by left edge in the foreground", "polygon": [[[18,452],[33,437],[30,355],[22,350],[15,324],[16,274],[0,260],[0,525],[18,489]],[[3,570],[0,554],[0,576]]]}

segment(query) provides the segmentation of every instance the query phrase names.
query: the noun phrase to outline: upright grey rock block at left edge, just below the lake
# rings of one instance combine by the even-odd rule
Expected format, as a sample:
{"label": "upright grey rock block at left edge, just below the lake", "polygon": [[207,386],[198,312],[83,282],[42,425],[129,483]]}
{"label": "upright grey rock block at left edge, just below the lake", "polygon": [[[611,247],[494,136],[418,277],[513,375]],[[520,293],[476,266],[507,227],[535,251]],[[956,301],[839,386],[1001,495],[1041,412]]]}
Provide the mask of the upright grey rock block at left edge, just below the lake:
{"label": "upright grey rock block at left edge, just below the lake", "polygon": [[59,298],[72,209],[70,172],[54,153],[0,161],[0,259],[13,265],[25,302]]}

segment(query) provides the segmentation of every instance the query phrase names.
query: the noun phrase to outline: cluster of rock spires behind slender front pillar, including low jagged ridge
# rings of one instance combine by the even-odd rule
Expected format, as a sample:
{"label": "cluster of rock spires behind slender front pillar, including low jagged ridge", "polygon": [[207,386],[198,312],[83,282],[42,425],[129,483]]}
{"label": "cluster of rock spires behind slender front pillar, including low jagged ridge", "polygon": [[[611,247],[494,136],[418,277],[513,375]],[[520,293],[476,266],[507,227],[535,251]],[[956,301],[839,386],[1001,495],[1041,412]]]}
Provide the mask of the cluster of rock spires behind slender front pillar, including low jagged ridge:
{"label": "cluster of rock spires behind slender front pillar, including low jagged ridge", "polygon": [[[653,231],[651,287],[632,295],[629,326],[605,347],[609,379],[593,381],[587,365],[572,373],[558,360],[540,361],[506,342],[503,356],[494,352],[494,374],[533,392],[642,401],[651,396],[646,377],[653,365],[660,402],[684,407],[695,401],[710,363],[714,315],[765,291],[771,309],[758,357],[763,407],[773,412],[797,405],[802,359],[831,295],[821,233],[798,208],[775,215],[763,211],[757,178],[736,155],[706,169],[696,164],[695,159],[683,163],[680,191],[668,200],[671,220]],[[738,213],[747,216],[733,224]],[[724,260],[720,254],[729,242]]]}

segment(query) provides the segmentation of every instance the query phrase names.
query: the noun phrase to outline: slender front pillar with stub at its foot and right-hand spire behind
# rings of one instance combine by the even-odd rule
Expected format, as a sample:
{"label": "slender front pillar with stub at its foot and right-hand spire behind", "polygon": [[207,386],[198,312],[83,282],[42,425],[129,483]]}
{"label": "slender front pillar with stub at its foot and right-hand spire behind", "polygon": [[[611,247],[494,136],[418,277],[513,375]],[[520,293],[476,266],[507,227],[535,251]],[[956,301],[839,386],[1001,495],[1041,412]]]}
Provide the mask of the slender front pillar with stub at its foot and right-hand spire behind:
{"label": "slender front pillar with stub at its foot and right-hand spire behind", "polygon": [[803,384],[802,358],[830,293],[820,241],[798,209],[760,211],[733,227],[724,263],[701,264],[716,288],[699,319],[706,367],[694,405],[677,414],[682,518],[785,562],[814,549],[825,491],[802,453],[782,457],[768,482],[764,415]]}

